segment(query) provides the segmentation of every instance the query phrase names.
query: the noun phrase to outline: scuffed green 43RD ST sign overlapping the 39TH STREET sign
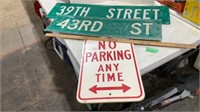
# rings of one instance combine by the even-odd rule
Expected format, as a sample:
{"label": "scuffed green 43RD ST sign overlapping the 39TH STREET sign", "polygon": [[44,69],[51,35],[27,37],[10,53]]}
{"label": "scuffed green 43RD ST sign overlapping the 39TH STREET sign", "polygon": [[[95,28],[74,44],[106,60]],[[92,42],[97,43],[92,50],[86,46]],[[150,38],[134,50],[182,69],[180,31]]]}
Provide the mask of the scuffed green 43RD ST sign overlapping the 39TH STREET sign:
{"label": "scuffed green 43RD ST sign overlapping the 39TH STREET sign", "polygon": [[161,40],[161,20],[58,16],[46,31],[90,36]]}

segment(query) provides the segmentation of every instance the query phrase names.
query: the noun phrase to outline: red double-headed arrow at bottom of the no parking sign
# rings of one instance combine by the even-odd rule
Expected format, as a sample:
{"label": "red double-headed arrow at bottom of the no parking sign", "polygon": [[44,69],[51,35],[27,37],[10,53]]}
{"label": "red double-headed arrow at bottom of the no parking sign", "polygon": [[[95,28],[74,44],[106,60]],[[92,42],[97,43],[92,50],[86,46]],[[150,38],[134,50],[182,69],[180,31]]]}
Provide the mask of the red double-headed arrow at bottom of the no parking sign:
{"label": "red double-headed arrow at bottom of the no parking sign", "polygon": [[130,89],[129,86],[122,84],[122,86],[115,86],[115,87],[97,87],[97,85],[91,87],[89,90],[93,93],[97,93],[97,91],[103,91],[103,90],[123,90],[123,93],[128,91]]}

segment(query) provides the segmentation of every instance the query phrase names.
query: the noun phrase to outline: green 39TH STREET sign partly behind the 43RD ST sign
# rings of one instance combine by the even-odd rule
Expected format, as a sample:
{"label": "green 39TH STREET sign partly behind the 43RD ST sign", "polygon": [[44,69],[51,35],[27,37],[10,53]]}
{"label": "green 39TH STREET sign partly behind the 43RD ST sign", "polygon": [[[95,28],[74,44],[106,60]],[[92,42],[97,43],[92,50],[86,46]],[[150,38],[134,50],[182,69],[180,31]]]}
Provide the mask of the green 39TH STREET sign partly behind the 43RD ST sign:
{"label": "green 39TH STREET sign partly behind the 43RD ST sign", "polygon": [[166,6],[105,6],[57,3],[47,15],[47,18],[65,15],[108,19],[161,19],[162,24],[170,24],[169,9]]}

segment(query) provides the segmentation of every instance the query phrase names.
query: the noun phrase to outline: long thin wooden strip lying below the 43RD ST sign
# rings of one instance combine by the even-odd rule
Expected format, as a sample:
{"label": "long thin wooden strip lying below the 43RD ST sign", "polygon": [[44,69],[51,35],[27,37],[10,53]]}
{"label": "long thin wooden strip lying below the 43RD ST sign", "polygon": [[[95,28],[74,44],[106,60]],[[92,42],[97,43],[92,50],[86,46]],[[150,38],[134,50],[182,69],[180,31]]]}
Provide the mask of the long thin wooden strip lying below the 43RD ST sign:
{"label": "long thin wooden strip lying below the 43RD ST sign", "polygon": [[46,33],[47,37],[60,37],[64,39],[75,39],[75,40],[96,40],[96,41],[113,41],[120,43],[133,43],[136,45],[148,45],[148,46],[159,46],[159,47],[172,47],[172,48],[189,48],[195,49],[196,45],[191,44],[180,44],[170,42],[158,42],[158,41],[146,41],[146,40],[131,40],[131,39],[120,39],[120,38],[108,38],[108,37],[92,37],[85,35],[69,35],[60,33]]}

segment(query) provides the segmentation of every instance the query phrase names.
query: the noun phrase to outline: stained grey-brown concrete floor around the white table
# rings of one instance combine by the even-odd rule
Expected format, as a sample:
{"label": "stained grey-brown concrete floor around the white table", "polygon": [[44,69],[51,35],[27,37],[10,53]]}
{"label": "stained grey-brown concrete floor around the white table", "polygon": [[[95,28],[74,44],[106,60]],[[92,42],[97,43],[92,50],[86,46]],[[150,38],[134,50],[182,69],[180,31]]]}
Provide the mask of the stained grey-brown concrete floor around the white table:
{"label": "stained grey-brown concrete floor around the white table", "polygon": [[[76,100],[73,68],[44,47],[47,39],[31,0],[1,0],[0,59],[2,111],[87,110]],[[198,111],[199,97],[163,110]]]}

